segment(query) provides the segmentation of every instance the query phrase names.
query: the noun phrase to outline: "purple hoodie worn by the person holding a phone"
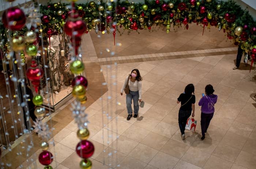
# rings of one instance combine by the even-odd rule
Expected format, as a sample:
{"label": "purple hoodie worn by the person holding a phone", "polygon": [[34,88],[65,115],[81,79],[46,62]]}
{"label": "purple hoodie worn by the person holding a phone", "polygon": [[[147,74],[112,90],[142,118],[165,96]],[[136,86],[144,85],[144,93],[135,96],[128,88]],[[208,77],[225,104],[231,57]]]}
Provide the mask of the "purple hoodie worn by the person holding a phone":
{"label": "purple hoodie worn by the person holding a phone", "polygon": [[214,104],[217,102],[217,95],[205,95],[200,100],[198,105],[202,106],[201,111],[206,114],[214,112]]}

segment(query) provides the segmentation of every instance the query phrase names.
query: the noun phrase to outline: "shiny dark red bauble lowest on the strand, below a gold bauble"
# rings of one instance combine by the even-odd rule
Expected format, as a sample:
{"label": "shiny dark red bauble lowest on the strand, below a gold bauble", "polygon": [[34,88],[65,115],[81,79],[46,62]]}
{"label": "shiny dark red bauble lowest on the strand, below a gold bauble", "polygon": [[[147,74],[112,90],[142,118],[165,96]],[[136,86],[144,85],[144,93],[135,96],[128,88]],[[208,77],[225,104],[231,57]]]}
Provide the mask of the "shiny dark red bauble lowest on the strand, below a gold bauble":
{"label": "shiny dark red bauble lowest on the strand, below a gold bauble", "polygon": [[81,158],[90,158],[94,153],[93,143],[87,140],[80,141],[76,146],[76,153]]}

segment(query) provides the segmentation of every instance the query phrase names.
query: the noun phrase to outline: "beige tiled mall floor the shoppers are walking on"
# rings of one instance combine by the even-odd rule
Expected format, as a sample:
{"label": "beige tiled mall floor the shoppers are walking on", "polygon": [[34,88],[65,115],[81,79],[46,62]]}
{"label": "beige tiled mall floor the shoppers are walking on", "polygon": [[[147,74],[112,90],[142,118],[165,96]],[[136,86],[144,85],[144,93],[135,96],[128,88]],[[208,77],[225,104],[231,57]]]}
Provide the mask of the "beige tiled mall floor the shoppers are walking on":
{"label": "beige tiled mall floor the shoppers are walking on", "polygon": [[[202,37],[201,30],[196,30],[195,26],[190,28],[193,31],[189,34],[184,30],[176,32],[177,44],[173,42],[175,38],[170,40],[162,30],[158,33],[165,38],[160,39],[156,35],[149,37],[149,33],[134,35],[136,32],[132,32],[133,35],[117,40],[122,46],[115,49],[109,47],[112,46],[109,37],[113,38],[110,35],[106,39],[94,34],[91,38],[84,36],[87,41],[83,45],[89,47],[88,51],[83,49],[89,71],[86,75],[91,84],[86,112],[90,121],[89,140],[95,146],[92,169],[255,169],[256,101],[253,96],[256,72],[249,73],[249,67],[244,64],[239,70],[232,70],[236,48],[221,37],[223,34],[213,28],[212,34],[206,31]],[[145,46],[139,48],[142,43]],[[115,50],[116,54],[112,57],[105,52],[106,48]],[[106,61],[101,60],[103,58]],[[120,96],[119,91],[133,68],[138,68],[143,77],[145,106],[140,108],[138,118],[127,121],[125,96]],[[101,85],[102,82],[106,85]],[[198,123],[196,131],[186,131],[186,139],[182,141],[177,120],[180,105],[176,100],[191,82],[195,85]],[[214,86],[218,102],[206,139],[201,141],[197,103],[206,84]],[[52,166],[56,169],[80,168],[81,158],[75,152],[79,142],[77,127],[70,118],[69,107],[52,118],[58,122],[56,127],[61,126],[54,133],[55,146],[50,147],[54,155]],[[67,120],[63,122],[63,118]],[[23,165],[43,168],[36,160],[40,152],[37,150],[30,157],[35,159],[33,164],[29,160]],[[11,162],[11,157],[7,154],[5,160]]]}

